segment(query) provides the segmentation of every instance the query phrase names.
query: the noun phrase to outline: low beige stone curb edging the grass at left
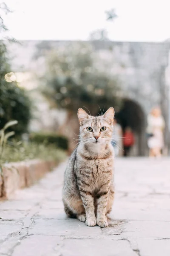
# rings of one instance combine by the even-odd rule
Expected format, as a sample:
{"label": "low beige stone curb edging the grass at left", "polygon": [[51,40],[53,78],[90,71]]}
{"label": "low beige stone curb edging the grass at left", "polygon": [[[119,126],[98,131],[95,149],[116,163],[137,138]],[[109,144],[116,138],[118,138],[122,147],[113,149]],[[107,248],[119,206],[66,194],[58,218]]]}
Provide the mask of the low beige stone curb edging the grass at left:
{"label": "low beige stone curb edging the grass at left", "polygon": [[56,161],[43,160],[4,164],[3,176],[0,176],[0,198],[8,199],[15,190],[31,186],[56,165]]}

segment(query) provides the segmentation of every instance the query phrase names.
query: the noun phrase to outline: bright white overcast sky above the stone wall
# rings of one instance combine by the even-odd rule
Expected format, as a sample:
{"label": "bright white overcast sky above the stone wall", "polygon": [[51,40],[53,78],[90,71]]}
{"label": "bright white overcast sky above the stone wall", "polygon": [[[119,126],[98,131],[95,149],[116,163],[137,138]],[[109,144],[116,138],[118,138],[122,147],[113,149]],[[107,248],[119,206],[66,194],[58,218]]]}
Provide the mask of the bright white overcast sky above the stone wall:
{"label": "bright white overcast sky above the stone wall", "polygon": [[[3,1],[13,10],[3,18],[17,40],[88,40],[96,29],[107,29],[113,41],[170,38],[169,0]],[[118,18],[108,22],[105,11],[112,8]]]}

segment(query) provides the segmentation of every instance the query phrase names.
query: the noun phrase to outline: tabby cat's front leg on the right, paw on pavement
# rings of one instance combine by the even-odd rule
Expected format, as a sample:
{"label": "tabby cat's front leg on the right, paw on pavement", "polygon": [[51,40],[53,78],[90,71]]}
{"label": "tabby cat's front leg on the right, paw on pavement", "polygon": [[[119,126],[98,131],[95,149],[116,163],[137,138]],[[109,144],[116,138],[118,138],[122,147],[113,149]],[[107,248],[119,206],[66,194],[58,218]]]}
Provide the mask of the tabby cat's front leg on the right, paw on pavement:
{"label": "tabby cat's front leg on the right, paw on pavement", "polygon": [[106,207],[108,203],[109,188],[100,190],[97,195],[97,225],[99,227],[108,227],[106,217]]}

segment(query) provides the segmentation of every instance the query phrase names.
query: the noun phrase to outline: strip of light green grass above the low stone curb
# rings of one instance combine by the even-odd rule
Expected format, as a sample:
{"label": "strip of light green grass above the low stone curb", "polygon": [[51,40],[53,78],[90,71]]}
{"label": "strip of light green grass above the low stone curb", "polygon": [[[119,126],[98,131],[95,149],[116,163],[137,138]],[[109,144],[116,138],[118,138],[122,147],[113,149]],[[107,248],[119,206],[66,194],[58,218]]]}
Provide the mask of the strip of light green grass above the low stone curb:
{"label": "strip of light green grass above the low stone curb", "polygon": [[38,143],[12,143],[6,144],[1,163],[19,162],[32,159],[56,160],[61,162],[66,157],[65,151],[56,148],[54,145],[44,145]]}

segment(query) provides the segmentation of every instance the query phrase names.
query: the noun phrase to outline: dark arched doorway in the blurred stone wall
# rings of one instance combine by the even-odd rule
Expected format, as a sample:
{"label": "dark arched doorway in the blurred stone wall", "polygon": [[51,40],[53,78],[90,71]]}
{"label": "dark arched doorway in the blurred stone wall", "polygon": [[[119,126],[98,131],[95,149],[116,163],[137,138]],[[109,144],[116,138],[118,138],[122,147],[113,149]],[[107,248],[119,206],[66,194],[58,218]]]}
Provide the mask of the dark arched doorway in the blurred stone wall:
{"label": "dark arched doorway in the blurred stone wall", "polygon": [[128,126],[133,130],[136,137],[134,155],[145,155],[145,116],[141,106],[131,99],[124,99],[122,108],[115,114],[115,117],[123,130]]}

